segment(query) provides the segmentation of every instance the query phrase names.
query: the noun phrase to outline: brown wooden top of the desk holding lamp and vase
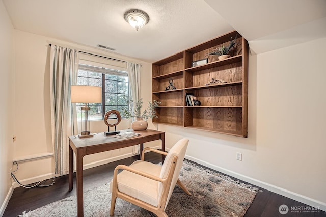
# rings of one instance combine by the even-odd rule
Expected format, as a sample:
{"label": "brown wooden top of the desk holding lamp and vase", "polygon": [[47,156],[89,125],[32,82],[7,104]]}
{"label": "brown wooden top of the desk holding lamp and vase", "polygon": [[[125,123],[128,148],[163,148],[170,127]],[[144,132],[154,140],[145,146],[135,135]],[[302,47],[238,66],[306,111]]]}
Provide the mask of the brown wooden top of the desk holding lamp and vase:
{"label": "brown wooden top of the desk holding lamp and vase", "polygon": [[145,137],[150,137],[153,135],[160,135],[165,134],[165,132],[147,129],[147,130],[139,130],[134,131],[132,129],[126,129],[126,130],[120,130],[121,133],[123,132],[135,132],[140,133],[137,137],[132,137],[128,139],[120,139],[114,137],[114,135],[105,135],[104,132],[99,132],[94,134],[94,137],[88,137],[88,138],[78,138],[75,135],[71,135],[69,137],[69,140],[73,143],[73,145],[76,148],[85,148],[90,146],[96,146],[96,145],[105,145],[105,144],[113,144],[113,143],[126,143],[131,141],[138,141],[140,139],[143,139]]}

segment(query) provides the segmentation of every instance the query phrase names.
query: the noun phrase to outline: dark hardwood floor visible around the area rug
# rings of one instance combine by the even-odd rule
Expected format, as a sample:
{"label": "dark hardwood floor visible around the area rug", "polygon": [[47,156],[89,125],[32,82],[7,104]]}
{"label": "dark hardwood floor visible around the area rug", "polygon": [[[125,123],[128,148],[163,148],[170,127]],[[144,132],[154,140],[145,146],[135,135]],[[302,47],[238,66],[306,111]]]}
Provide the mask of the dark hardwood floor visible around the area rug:
{"label": "dark hardwood floor visible around the area rug", "polygon": [[[110,164],[101,165],[95,168],[84,170],[84,191],[92,189],[96,186],[108,183],[113,177],[114,168],[119,164],[130,165],[138,157],[129,157],[123,160],[115,161]],[[160,162],[160,155],[156,153],[146,153],[145,159],[157,164]],[[51,183],[48,180],[47,183]],[[258,186],[258,188],[260,188]],[[260,188],[262,189],[262,188]],[[326,212],[305,212],[305,213],[293,213],[289,211],[287,214],[282,215],[279,212],[279,207],[285,204],[289,207],[307,207],[307,205],[291,200],[284,196],[275,194],[273,192],[262,189],[263,192],[258,192],[256,198],[246,213],[248,216],[323,216],[326,217]],[[55,178],[55,184],[49,187],[35,187],[26,189],[23,187],[17,187],[14,189],[13,195],[8,203],[8,206],[4,212],[6,216],[17,216],[22,214],[23,211],[30,211],[37,209],[41,206],[55,202],[57,200],[64,199],[66,197],[76,195],[76,183],[74,179],[73,191],[68,192],[68,175]],[[179,216],[181,217],[181,216]]]}

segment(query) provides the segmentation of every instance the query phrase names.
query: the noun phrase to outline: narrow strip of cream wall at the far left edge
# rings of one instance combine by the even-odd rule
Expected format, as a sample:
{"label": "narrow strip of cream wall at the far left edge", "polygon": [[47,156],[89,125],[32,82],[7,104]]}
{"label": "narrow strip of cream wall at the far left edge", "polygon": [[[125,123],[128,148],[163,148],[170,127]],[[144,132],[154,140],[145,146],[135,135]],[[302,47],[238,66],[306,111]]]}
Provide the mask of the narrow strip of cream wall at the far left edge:
{"label": "narrow strip of cream wall at the far left edge", "polygon": [[13,26],[2,1],[0,1],[0,29],[0,216],[2,216],[12,193],[10,170],[15,121]]}

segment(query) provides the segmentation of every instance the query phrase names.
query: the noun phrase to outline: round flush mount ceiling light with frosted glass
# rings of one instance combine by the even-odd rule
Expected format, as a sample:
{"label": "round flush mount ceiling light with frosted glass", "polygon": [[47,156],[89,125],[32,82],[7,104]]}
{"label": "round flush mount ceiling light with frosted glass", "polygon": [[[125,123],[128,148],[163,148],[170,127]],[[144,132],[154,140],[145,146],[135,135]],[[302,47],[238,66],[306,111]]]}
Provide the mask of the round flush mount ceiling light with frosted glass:
{"label": "round flush mount ceiling light with frosted glass", "polygon": [[142,10],[131,9],[124,13],[124,19],[137,31],[142,28],[149,21],[149,16]]}

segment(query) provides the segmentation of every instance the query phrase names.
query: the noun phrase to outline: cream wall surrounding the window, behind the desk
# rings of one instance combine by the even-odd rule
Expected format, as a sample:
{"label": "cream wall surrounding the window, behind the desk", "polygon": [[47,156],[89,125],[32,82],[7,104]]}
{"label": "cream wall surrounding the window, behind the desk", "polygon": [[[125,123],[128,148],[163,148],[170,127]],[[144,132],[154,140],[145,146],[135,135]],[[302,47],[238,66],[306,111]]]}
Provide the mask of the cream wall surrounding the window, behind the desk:
{"label": "cream wall surrounding the window, behind the desk", "polygon": [[[42,152],[53,152],[51,140],[50,91],[49,91],[49,43],[67,45],[88,52],[95,52],[112,58],[142,64],[141,84],[151,83],[151,64],[128,57],[108,53],[100,49],[84,47],[56,39],[35,35],[19,30],[15,35],[15,106],[16,135],[14,158],[33,155]],[[151,86],[144,85],[141,97],[144,102],[151,100]],[[130,125],[128,120],[122,120],[117,129],[125,129]],[[153,128],[149,122],[149,128]],[[107,131],[103,121],[91,123],[92,132]],[[113,130],[113,129],[111,129]],[[157,143],[147,143],[145,146],[156,146]],[[159,145],[159,144],[158,144]],[[89,168],[105,162],[132,156],[132,149],[124,148],[84,157],[84,168]],[[53,157],[21,162],[16,177],[23,183],[32,183],[53,176]],[[35,169],[37,168],[37,170]]]}

